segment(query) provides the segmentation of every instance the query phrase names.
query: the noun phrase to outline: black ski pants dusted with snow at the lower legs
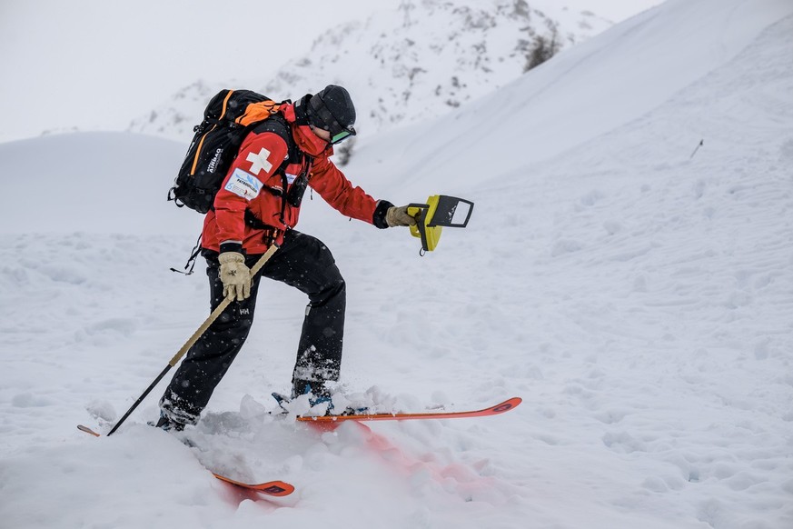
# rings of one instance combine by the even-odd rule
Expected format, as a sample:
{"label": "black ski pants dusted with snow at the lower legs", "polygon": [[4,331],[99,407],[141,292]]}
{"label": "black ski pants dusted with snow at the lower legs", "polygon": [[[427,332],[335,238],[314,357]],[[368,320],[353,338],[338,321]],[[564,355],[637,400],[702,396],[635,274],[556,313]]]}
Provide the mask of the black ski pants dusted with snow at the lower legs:
{"label": "black ski pants dusted with snow at the lower legs", "polygon": [[[203,255],[214,310],[223,301],[220,265],[217,254]],[[245,264],[253,267],[260,256],[247,256]],[[160,400],[160,408],[168,418],[183,424],[198,422],[215,386],[248,337],[262,276],[289,284],[309,297],[292,383],[339,379],[346,305],[344,280],[331,251],[320,240],[291,230],[284,235],[281,248],[253,277],[251,296],[233,301],[187,352]]]}

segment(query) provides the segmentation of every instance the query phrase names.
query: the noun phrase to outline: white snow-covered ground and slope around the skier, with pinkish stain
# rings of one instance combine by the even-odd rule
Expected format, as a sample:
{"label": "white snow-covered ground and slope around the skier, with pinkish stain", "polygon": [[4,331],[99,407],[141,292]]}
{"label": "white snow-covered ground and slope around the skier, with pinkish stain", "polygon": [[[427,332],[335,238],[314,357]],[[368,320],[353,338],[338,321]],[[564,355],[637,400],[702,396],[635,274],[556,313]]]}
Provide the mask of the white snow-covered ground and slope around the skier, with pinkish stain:
{"label": "white snow-covered ground and slope around the skier, with pinkish stain", "polygon": [[[266,283],[196,448],[145,425],[164,383],[118,434],[78,432],[109,430],[207,314],[203,274],[168,270],[200,224],[164,202],[183,146],[0,145],[0,525],[793,526],[789,35],[787,0],[670,0],[362,141],[346,172],[372,195],[476,203],[423,258],[306,201],[349,287],[342,391],[523,397],[486,419],[322,434],[267,414],[305,300]],[[297,490],[266,501],[204,467]]]}

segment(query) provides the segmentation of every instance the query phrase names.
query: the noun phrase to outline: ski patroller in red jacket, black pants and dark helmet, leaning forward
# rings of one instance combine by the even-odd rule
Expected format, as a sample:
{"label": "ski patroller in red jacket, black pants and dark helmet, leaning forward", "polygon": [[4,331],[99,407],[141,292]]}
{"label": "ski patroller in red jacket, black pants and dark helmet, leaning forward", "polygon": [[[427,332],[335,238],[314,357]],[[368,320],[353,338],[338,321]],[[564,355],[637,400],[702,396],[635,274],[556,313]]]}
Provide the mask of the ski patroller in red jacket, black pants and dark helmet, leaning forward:
{"label": "ski patroller in red jacket, black pants and dark helmet, leaning forward", "polygon": [[[353,186],[329,159],[333,145],[355,135],[354,123],[350,94],[342,86],[329,85],[282,105],[243,140],[213,210],[204,218],[202,234],[212,309],[224,297],[234,301],[173,375],[160,399],[158,427],[181,430],[198,422],[248,336],[262,276],[289,284],[309,298],[292,398],[312,394],[314,404],[330,400],[325,383],[339,379],[346,291],[327,246],[293,229],[302,195],[311,187],[343,215],[378,228],[415,225],[407,206],[375,200]],[[273,244],[278,250],[252,277],[251,267]],[[332,412],[330,402],[328,413]]]}

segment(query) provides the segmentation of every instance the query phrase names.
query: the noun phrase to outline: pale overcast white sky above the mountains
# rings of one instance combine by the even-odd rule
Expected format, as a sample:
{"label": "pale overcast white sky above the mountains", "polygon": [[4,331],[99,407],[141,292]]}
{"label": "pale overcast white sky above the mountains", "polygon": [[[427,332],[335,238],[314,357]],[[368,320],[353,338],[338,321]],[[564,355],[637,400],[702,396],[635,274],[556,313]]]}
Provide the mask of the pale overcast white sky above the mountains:
{"label": "pale overcast white sky above the mountains", "polygon": [[[323,29],[400,1],[0,0],[0,142],[123,130],[200,78],[259,84]],[[660,2],[565,4],[620,21]]]}

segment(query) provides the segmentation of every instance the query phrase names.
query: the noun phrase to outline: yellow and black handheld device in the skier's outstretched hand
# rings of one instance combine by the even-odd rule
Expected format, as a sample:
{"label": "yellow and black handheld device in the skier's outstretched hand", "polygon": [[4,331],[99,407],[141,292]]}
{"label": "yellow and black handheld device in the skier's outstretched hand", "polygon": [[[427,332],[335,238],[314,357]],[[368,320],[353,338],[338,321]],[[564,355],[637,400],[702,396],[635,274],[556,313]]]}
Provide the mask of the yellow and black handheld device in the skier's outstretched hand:
{"label": "yellow and black handheld device in the skier's outstretched hand", "polygon": [[[467,207],[459,207],[465,205]],[[473,203],[470,200],[447,195],[432,195],[427,204],[409,204],[408,215],[416,218],[411,235],[421,239],[419,255],[431,252],[441,240],[441,229],[464,228],[471,220]],[[462,216],[464,215],[464,218]],[[457,219],[457,220],[455,220]]]}

